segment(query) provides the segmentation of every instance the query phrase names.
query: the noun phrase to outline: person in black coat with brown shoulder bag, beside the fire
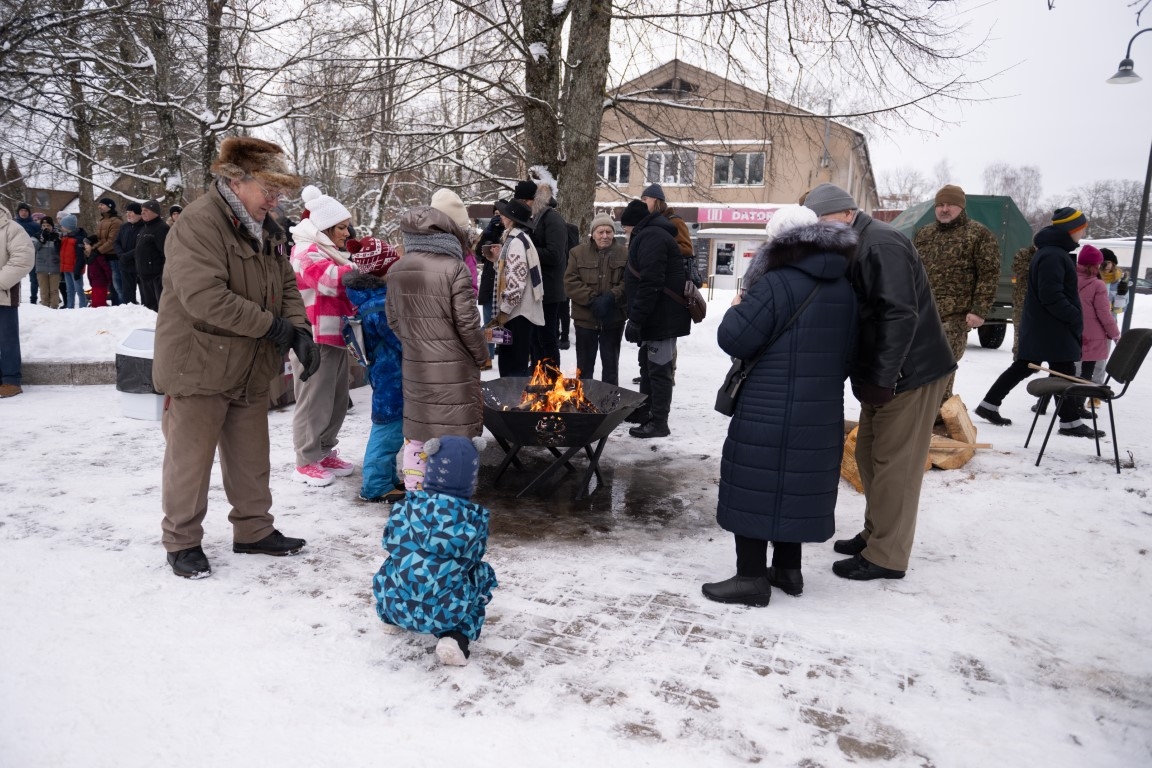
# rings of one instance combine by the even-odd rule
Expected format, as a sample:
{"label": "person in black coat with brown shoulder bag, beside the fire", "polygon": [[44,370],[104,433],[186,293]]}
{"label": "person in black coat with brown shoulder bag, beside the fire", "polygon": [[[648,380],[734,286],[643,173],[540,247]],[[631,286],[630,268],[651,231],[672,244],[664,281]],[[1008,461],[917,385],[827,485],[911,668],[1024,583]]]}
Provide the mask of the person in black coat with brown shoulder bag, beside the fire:
{"label": "person in black coat with brown shoulder bag, beside the fire", "polygon": [[672,410],[676,339],[692,332],[683,296],[684,259],[676,245],[676,228],[660,213],[649,213],[632,200],[620,214],[628,233],[624,296],[628,321],[624,339],[639,344],[641,394],[647,395],[647,420],[628,431],[634,438],[667,438]]}

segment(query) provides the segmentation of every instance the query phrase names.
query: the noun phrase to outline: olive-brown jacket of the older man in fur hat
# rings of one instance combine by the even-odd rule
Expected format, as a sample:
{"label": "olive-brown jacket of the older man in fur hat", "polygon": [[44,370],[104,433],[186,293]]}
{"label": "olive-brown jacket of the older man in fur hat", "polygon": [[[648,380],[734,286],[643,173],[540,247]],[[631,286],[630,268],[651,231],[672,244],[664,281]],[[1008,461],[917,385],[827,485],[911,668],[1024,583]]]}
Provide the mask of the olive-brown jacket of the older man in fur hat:
{"label": "olive-brown jacket of the older man in fur hat", "polygon": [[264,220],[264,248],[215,189],[181,214],[165,241],[152,381],[174,397],[267,397],[282,358],[264,339],[282,317],[308,328],[282,229]]}

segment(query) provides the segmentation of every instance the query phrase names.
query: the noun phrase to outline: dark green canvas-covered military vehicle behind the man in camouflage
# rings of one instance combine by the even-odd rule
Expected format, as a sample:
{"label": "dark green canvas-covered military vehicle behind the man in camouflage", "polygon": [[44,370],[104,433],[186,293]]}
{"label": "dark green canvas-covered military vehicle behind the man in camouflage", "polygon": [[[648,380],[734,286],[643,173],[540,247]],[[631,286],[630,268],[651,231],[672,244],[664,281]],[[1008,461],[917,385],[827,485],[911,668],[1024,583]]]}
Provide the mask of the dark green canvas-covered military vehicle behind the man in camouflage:
{"label": "dark green canvas-covered military vehicle behind the man in camouflage", "polygon": [[[999,349],[1003,343],[1007,324],[1011,322],[1013,259],[1016,251],[1032,244],[1032,228],[1010,197],[1000,195],[968,195],[964,208],[968,218],[979,221],[992,230],[1000,244],[1000,283],[996,298],[992,303],[990,317],[976,329],[980,347]],[[901,213],[892,226],[904,233],[909,239],[925,225],[935,221],[935,203],[925,200]]]}

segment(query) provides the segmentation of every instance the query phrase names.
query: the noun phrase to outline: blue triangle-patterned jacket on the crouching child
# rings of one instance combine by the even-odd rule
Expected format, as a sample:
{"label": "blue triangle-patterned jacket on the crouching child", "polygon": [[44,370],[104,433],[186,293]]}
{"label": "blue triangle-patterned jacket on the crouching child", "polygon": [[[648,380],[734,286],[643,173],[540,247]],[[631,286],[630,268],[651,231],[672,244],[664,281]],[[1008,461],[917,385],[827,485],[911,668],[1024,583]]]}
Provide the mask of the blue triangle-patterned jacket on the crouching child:
{"label": "blue triangle-patterned jacket on the crouching child", "polygon": [[485,562],[488,510],[440,493],[409,491],[384,529],[384,561],[372,579],[380,619],[414,632],[453,630],[476,640],[497,576]]}

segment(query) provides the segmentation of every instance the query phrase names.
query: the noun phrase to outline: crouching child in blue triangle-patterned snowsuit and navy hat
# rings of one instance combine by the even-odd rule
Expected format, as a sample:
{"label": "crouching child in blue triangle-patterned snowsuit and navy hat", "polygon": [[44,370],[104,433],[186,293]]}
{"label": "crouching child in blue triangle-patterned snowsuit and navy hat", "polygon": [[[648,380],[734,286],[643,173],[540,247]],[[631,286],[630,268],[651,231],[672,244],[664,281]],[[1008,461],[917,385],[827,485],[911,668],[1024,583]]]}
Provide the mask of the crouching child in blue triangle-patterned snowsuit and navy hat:
{"label": "crouching child in blue triangle-patterned snowsuit and navy hat", "polygon": [[424,489],[392,505],[382,541],[388,558],[372,579],[385,629],[434,634],[437,656],[455,667],[468,663],[497,586],[483,562],[488,510],[469,501],[484,444],[456,435],[424,443]]}

